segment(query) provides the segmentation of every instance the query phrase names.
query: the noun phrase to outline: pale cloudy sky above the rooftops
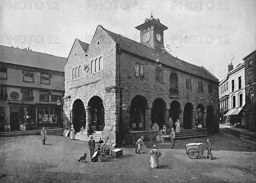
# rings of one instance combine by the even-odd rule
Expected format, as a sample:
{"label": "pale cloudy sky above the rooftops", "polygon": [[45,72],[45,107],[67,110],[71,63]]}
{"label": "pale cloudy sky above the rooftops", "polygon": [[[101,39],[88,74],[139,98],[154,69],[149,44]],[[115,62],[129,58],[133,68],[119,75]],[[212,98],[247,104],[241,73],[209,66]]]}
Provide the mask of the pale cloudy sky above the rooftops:
{"label": "pale cloudy sky above the rooftops", "polygon": [[[256,49],[256,0],[0,0],[0,45],[67,57],[75,38],[90,43],[98,25],[140,42],[134,27],[154,18],[168,27],[172,55],[220,81]],[[177,48],[178,47],[178,48]]]}

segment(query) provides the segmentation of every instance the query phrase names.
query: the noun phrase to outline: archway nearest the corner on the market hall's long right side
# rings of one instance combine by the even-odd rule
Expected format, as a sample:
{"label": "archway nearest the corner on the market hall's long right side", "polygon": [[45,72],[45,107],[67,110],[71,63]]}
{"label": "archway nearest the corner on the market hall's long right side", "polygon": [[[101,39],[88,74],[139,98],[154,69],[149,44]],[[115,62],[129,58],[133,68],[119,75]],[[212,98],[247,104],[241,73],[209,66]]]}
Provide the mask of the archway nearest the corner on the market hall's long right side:
{"label": "archway nearest the corner on the market hall's long right side", "polygon": [[141,95],[135,96],[131,100],[130,106],[130,128],[135,130],[145,129],[145,113],[148,101]]}

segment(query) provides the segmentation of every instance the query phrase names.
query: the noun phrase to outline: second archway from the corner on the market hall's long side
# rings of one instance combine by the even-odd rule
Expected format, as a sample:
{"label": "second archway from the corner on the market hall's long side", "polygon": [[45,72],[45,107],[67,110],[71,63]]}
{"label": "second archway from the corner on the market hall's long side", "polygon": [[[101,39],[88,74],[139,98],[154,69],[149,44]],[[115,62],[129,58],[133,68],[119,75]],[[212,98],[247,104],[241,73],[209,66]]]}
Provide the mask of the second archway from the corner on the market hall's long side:
{"label": "second archway from the corner on the market hall's long side", "polygon": [[164,119],[164,113],[166,111],[166,103],[163,99],[157,98],[154,100],[151,109],[151,126],[157,123],[159,129],[163,129],[163,125],[166,123]]}

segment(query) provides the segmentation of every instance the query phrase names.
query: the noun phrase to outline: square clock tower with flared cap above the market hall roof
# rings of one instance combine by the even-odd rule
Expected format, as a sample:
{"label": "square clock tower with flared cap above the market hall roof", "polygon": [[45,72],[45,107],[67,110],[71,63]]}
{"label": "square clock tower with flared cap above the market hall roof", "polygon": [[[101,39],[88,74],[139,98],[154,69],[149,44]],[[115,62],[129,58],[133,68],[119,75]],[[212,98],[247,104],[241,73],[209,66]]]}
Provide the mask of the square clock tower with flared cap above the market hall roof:
{"label": "square clock tower with flared cap above the market hall roof", "polygon": [[140,26],[135,27],[140,31],[140,43],[150,46],[153,49],[160,49],[163,45],[163,31],[168,27],[160,23],[159,18],[154,19],[153,15]]}

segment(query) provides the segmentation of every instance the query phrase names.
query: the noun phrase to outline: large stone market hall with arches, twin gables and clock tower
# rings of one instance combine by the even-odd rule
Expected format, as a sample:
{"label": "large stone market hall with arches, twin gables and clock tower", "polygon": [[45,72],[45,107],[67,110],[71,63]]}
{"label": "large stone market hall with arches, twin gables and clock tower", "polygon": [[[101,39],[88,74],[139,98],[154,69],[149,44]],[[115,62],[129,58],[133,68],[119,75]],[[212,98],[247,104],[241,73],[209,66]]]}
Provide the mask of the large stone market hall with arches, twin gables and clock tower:
{"label": "large stone market hall with arches, twin gables and clock tower", "polygon": [[98,26],[89,44],[76,39],[65,65],[64,126],[102,131],[110,143],[154,137],[172,117],[182,129],[218,130],[218,79],[203,66],[173,57],[168,29],[151,18],[137,26],[140,43]]}

